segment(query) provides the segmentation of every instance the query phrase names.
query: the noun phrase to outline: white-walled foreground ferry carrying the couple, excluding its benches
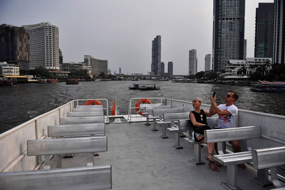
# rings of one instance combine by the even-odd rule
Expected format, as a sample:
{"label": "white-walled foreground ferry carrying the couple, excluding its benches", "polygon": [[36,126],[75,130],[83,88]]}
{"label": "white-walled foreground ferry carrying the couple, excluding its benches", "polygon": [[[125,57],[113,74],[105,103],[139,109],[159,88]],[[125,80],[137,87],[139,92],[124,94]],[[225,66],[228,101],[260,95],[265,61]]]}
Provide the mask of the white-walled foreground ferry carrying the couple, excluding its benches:
{"label": "white-walled foreground ferry carrying the couple, excluding its benches", "polygon": [[[141,97],[143,98],[143,97]],[[136,114],[135,104],[141,98],[132,98],[128,106],[128,115],[109,116],[108,101],[100,100],[103,104],[105,112],[105,135],[107,136],[108,150],[101,152],[99,156],[94,157],[94,165],[102,166],[106,164],[112,165],[112,182],[111,187],[98,187],[94,189],[223,189],[220,182],[227,181],[229,168],[219,168],[220,172],[213,172],[204,156],[207,154],[207,145],[197,144],[197,149],[201,150],[201,163],[193,164],[191,160],[194,158],[194,146],[188,142],[180,140],[180,145],[183,149],[173,149],[175,141],[174,133],[167,133],[168,138],[161,139],[161,127],[157,126],[159,131],[150,130],[151,126],[144,125],[145,117]],[[147,99],[147,98],[146,98]],[[173,108],[183,107],[185,112],[193,111],[192,102],[168,99],[163,97],[148,98],[152,103],[161,102],[165,105],[171,105]],[[91,99],[92,100],[92,99]],[[0,172],[8,175],[12,173],[17,175],[17,172],[27,171],[26,173],[39,170],[45,164],[44,158],[50,160],[50,171],[56,171],[57,161],[55,156],[28,156],[27,140],[47,140],[53,139],[48,137],[48,125],[59,125],[60,118],[67,117],[67,112],[72,112],[72,109],[77,105],[84,105],[87,100],[72,100],[54,110],[48,111],[45,114],[32,118],[31,120],[18,125],[17,127],[0,134]],[[86,103],[85,103],[86,104]],[[201,104],[201,109],[209,111],[210,105]],[[244,126],[261,126],[261,138],[251,140],[240,140],[242,151],[248,150],[248,145],[252,149],[270,148],[285,146],[284,136],[285,116],[275,114],[265,114],[254,111],[239,109],[239,117],[237,127]],[[215,117],[215,116],[212,116]],[[114,118],[124,119],[123,123],[110,123]],[[108,124],[108,125],[107,125]],[[191,137],[192,133],[183,132],[186,138]],[[178,137],[179,138],[179,137]],[[228,143],[226,143],[229,145]],[[11,151],[13,150],[13,151]],[[227,147],[227,153],[231,153],[232,147]],[[67,168],[71,172],[72,168],[78,166],[86,166],[86,154],[75,154],[74,157],[62,158],[61,168]],[[204,162],[205,164],[203,164]],[[46,160],[47,162],[47,160]],[[262,189],[269,190],[274,188],[268,186],[270,183],[258,184],[254,182],[254,178],[258,176],[257,170],[252,166],[252,163],[247,163],[247,169],[237,168],[233,171],[238,176],[238,180],[234,183],[243,189]],[[86,166],[91,167],[91,166]],[[278,168],[278,179],[281,184],[284,184],[285,178],[282,171],[284,168]],[[44,171],[44,170],[43,170]],[[229,170],[231,171],[231,170]],[[59,177],[59,181],[61,177]],[[83,173],[82,173],[83,175]],[[0,173],[0,181],[3,175]],[[19,177],[18,177],[19,178]],[[43,177],[39,175],[38,179]],[[86,176],[88,178],[88,176]],[[22,179],[18,179],[20,183],[25,183]],[[22,181],[20,181],[22,180]],[[82,178],[78,183],[84,183]],[[87,180],[87,179],[86,179]],[[104,178],[94,178],[96,180],[104,180]],[[31,180],[29,180],[31,182]],[[3,180],[2,180],[3,182]],[[269,181],[270,182],[270,181]],[[37,178],[34,179],[34,184],[37,184]],[[15,186],[19,183],[15,182]],[[27,186],[33,186],[33,183],[27,183]],[[42,184],[43,189],[48,189],[46,184]],[[87,186],[88,184],[86,184]],[[264,185],[264,187],[263,187]],[[1,183],[0,183],[1,187]],[[3,186],[2,186],[3,187]],[[235,189],[240,189],[235,188]],[[5,189],[5,188],[3,188]],[[76,189],[76,187],[75,187]],[[85,188],[87,189],[87,188]],[[230,189],[230,188],[227,188]]]}

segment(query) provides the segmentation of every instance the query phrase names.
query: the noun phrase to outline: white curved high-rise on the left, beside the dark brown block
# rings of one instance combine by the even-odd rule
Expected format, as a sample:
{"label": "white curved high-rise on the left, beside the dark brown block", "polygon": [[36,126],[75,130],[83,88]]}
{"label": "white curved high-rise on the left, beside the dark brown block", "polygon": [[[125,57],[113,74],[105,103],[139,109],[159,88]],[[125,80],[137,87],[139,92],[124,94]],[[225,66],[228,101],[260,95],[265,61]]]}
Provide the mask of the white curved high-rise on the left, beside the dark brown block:
{"label": "white curved high-rise on the left, beside the dark brown block", "polygon": [[30,35],[30,69],[59,70],[59,30],[50,22],[22,25]]}

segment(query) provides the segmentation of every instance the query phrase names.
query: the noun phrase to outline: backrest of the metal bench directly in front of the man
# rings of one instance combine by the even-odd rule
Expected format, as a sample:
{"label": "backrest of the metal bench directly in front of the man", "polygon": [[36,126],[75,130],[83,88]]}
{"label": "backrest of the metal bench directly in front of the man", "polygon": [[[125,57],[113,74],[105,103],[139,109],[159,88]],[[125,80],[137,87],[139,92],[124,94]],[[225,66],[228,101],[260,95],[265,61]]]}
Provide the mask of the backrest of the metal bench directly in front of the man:
{"label": "backrest of the metal bench directly in front of the man", "polygon": [[231,140],[254,139],[261,137],[260,126],[228,129],[204,130],[205,142],[226,142]]}

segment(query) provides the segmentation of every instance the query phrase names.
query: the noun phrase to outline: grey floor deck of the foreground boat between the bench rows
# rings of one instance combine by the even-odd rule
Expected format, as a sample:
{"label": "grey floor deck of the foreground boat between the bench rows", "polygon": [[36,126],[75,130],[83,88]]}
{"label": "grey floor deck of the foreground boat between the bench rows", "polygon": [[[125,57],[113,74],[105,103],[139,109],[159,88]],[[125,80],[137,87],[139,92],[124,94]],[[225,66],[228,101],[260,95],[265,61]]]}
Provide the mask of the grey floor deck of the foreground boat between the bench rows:
{"label": "grey floor deck of the foreground boat between the bench rows", "polygon": [[[226,182],[227,168],[214,172],[204,159],[206,145],[201,148],[203,165],[194,165],[194,146],[187,144],[183,137],[183,149],[172,149],[174,133],[166,133],[169,138],[161,139],[161,126],[152,131],[152,125],[135,123],[106,124],[108,151],[95,157],[95,165],[112,165],[112,189],[223,189],[220,182]],[[62,159],[62,167],[85,166],[87,157],[75,154],[73,158]],[[55,168],[55,156],[51,168]],[[241,189],[272,189],[261,187],[251,181],[257,170],[247,165],[238,167],[238,186]]]}

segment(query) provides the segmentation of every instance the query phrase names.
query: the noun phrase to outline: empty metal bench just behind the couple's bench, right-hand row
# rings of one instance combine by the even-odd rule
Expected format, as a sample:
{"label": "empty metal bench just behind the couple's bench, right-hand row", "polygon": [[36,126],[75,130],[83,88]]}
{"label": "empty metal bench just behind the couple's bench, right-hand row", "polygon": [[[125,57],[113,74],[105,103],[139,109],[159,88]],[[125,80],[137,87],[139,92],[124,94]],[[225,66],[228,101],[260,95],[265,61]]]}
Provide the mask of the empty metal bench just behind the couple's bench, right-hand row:
{"label": "empty metal bench just behind the couple's bench, right-hand row", "polygon": [[[178,122],[178,120],[188,119],[189,112],[186,113],[175,113],[175,114],[163,114],[163,121],[156,121],[156,125],[162,125],[162,135],[161,138],[168,138],[165,134],[166,125],[170,127],[178,127],[174,125],[174,122]],[[180,137],[185,137],[185,135],[180,134]]]}

